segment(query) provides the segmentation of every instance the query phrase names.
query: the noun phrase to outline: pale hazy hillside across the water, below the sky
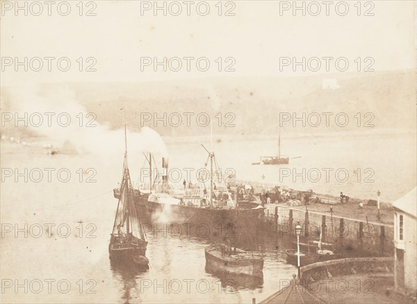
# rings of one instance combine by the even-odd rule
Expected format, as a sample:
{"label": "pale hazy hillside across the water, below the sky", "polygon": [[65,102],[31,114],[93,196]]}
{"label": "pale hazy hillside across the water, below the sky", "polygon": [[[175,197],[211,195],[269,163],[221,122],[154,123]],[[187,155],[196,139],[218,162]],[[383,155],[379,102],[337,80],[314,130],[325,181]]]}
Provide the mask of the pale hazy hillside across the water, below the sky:
{"label": "pale hazy hillside across the water, below the sky", "polygon": [[[42,85],[42,91],[69,90],[87,112],[95,112],[97,120],[110,124],[111,128],[122,125],[122,112],[126,108],[126,119],[131,128],[140,129],[140,113],[156,113],[163,117],[173,112],[193,112],[191,126],[186,126],[186,116],[182,115],[181,126],[163,126],[160,121],[155,127],[153,121],[145,126],[154,128],[161,135],[199,135],[208,133],[206,128],[197,126],[195,117],[206,112],[214,119],[213,132],[229,135],[276,134],[279,113],[302,112],[345,112],[350,123],[343,130],[357,130],[354,115],[361,113],[361,126],[370,120],[363,117],[373,113],[374,128],[416,128],[416,83],[414,71],[373,72],[369,74],[342,74],[337,76],[340,86],[336,90],[323,90],[323,78],[330,76],[309,76],[298,78],[206,78],[192,81],[166,81],[149,83],[59,83]],[[4,110],[13,111],[12,96],[8,88],[1,90]],[[217,126],[215,113],[222,113],[222,127]],[[233,117],[224,117],[233,112],[235,125],[224,127]],[[283,132],[326,133],[339,130],[334,115],[330,127],[325,120],[320,126],[306,128],[298,122],[294,128],[290,122],[284,123]],[[321,115],[322,119],[325,116]],[[177,121],[175,119],[175,121]],[[204,122],[204,119],[202,119]],[[315,123],[316,120],[313,121]]]}

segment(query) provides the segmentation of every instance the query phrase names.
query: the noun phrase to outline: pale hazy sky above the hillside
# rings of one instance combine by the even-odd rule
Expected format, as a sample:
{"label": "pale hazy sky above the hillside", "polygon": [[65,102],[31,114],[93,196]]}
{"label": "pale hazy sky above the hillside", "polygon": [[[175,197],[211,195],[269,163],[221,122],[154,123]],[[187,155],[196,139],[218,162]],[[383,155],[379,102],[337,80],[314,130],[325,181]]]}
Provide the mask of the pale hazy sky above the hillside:
{"label": "pale hazy sky above the hillside", "polygon": [[[24,2],[21,5],[24,6]],[[169,14],[177,12],[177,4],[167,5],[167,16],[159,10],[154,16],[153,10],[142,11],[141,6],[154,5],[154,1],[84,1],[83,16],[79,16],[79,1],[69,1],[71,12],[67,16],[58,13],[58,3],[51,6],[51,16],[44,1],[42,14],[39,7],[28,5],[28,16],[24,10],[15,12],[15,1],[1,2],[1,85],[12,85],[21,81],[149,81],[173,78],[197,78],[208,76],[303,76],[325,72],[325,60],[320,60],[319,71],[293,72],[291,65],[279,70],[280,57],[345,57],[349,62],[347,71],[356,71],[354,60],[361,58],[363,70],[372,63],[375,71],[387,69],[413,69],[416,64],[416,2],[415,1],[361,1],[358,16],[358,1],[345,1],[349,11],[345,16],[336,13],[336,4],[329,5],[329,16],[323,1],[318,16],[316,3],[305,2],[306,16],[301,10],[292,8],[281,10],[286,5],[293,6],[293,1],[234,1],[222,3],[222,16],[218,16],[218,1],[208,1],[210,13],[206,16],[197,14],[197,3],[187,6],[183,1],[179,16]],[[164,1],[158,5],[163,6]],[[297,1],[302,6],[304,1]],[[338,11],[343,13],[344,5],[338,4]],[[10,6],[13,6],[10,8]],[[170,6],[170,7],[169,7]],[[233,7],[235,6],[235,7]],[[200,4],[200,12],[205,6]],[[225,12],[235,16],[224,16]],[[10,10],[9,10],[10,9]],[[65,6],[60,12],[65,13]],[[88,10],[96,16],[85,16]],[[366,11],[373,16],[365,16]],[[7,57],[13,58],[6,66]],[[71,62],[69,71],[59,71],[56,60],[52,60],[51,69],[47,71],[47,60],[42,59],[42,71],[24,71],[20,66],[15,71],[15,57],[24,61],[39,57],[67,57]],[[79,71],[80,57],[83,59],[83,71]],[[95,58],[97,71],[85,69]],[[199,71],[195,60],[191,61],[191,71],[186,71],[186,60],[181,60],[181,71],[155,72],[153,66],[140,70],[141,57],[206,57],[210,62],[208,71]],[[218,71],[217,58],[223,58],[222,71]],[[232,57],[236,71],[224,71]],[[363,62],[364,58],[373,60]],[[6,59],[5,59],[6,58]],[[5,61],[6,60],[6,61]],[[33,61],[38,68],[38,61]],[[65,67],[65,62],[61,62]],[[202,62],[204,63],[204,62]],[[316,62],[313,62],[316,67]],[[343,65],[341,65],[343,67]],[[177,64],[175,64],[177,67]],[[202,65],[204,67],[204,65]],[[334,60],[329,65],[331,72],[338,72]],[[341,72],[343,73],[343,72]]]}

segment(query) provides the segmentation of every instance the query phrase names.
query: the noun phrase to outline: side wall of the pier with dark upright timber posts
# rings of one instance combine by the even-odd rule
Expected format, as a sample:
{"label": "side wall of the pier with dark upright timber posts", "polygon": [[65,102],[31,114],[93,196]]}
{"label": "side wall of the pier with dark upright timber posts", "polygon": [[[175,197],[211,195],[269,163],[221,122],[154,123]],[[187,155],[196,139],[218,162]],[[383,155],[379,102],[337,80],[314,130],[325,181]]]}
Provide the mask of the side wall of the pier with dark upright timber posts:
{"label": "side wall of the pier with dark upright timber posts", "polygon": [[321,231],[322,242],[332,244],[345,255],[393,256],[392,225],[285,206],[275,206],[273,210],[265,210],[261,223],[263,230],[275,233],[277,237],[296,242],[295,226],[299,224],[302,226],[302,239],[318,241]]}

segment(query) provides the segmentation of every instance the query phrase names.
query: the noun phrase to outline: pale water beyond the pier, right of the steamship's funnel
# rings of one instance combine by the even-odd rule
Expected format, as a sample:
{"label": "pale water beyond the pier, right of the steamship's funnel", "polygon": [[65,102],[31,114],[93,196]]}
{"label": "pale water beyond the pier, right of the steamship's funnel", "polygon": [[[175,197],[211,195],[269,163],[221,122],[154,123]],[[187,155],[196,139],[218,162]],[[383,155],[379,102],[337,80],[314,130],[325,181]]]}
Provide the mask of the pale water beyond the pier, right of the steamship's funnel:
{"label": "pale water beyond the pier, right of the steamship's funnel", "polygon": [[[415,134],[359,135],[282,138],[281,153],[294,159],[275,166],[252,162],[259,162],[260,155],[275,155],[277,140],[222,140],[213,144],[213,150],[222,171],[234,169],[240,180],[313,189],[336,196],[343,192],[365,199],[375,199],[379,189],[386,202],[416,186]],[[210,146],[208,141],[204,144]],[[171,167],[204,167],[207,154],[197,140],[191,144],[170,144],[167,148]],[[295,158],[298,156],[301,158]],[[176,175],[173,173],[172,177]],[[192,181],[197,180],[196,174],[192,177]]]}

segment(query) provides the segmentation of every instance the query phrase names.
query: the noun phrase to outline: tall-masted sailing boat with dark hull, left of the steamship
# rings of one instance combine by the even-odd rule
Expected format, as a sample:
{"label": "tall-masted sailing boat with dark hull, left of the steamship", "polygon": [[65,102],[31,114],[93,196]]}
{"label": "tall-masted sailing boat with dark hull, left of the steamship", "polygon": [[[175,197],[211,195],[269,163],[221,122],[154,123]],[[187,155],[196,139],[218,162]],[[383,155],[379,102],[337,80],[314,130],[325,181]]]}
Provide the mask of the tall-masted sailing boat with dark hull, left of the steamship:
{"label": "tall-masted sailing boat with dark hull, left of the steamship", "polygon": [[127,166],[126,124],[124,126],[124,164],[123,177],[120,185],[120,199],[117,203],[113,231],[111,233],[108,253],[110,259],[123,264],[136,264],[148,267],[149,260],[145,257],[147,237],[145,229],[138,219],[133,201],[133,187]]}

